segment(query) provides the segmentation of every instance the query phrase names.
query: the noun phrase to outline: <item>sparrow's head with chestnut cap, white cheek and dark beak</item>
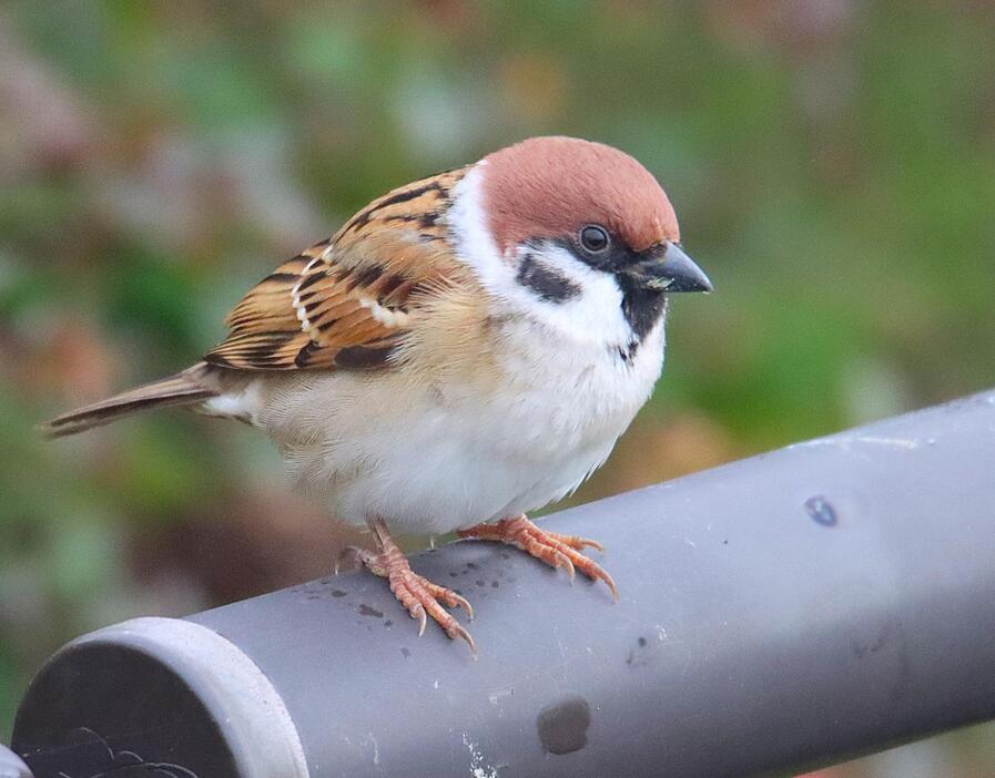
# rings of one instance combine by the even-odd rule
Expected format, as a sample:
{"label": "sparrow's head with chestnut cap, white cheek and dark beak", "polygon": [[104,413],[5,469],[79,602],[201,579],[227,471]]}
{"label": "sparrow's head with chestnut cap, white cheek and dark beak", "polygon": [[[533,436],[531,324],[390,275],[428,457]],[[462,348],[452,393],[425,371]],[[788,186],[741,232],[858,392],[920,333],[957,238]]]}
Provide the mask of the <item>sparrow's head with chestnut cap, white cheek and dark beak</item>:
{"label": "sparrow's head with chestnut cap, white cheek and dark beak", "polygon": [[573,310],[575,326],[599,319],[600,329],[620,310],[639,339],[662,319],[666,295],[712,289],[660,184],[617,149],[532,137],[484,157],[460,188],[463,256],[493,295],[547,318]]}

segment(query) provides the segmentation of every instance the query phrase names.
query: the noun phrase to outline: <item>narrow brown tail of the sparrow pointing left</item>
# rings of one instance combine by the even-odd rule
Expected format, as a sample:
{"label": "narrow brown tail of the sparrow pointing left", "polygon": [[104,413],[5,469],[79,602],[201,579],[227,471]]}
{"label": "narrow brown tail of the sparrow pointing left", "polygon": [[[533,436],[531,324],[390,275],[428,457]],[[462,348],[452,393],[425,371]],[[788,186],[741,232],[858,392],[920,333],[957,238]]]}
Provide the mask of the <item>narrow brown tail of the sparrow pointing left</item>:
{"label": "narrow brown tail of the sparrow pointing left", "polygon": [[38,430],[45,438],[62,438],[150,408],[190,406],[217,397],[217,391],[197,380],[203,367],[197,365],[175,376],[129,389],[92,406],[63,413],[39,424]]}

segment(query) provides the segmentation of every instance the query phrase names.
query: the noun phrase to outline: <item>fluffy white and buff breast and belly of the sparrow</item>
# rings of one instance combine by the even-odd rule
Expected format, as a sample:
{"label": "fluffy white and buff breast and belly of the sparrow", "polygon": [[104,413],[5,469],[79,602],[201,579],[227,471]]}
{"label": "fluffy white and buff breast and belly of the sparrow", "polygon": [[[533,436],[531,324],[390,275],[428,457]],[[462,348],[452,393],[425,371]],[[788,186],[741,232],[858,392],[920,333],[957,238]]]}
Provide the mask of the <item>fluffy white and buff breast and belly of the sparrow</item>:
{"label": "fluffy white and buff breast and belly of the sparrow", "polygon": [[608,457],[659,376],[662,327],[629,365],[525,324],[506,336],[509,380],[487,393],[403,370],[287,376],[267,385],[255,421],[294,479],[352,524],[383,516],[441,534],[535,510]]}

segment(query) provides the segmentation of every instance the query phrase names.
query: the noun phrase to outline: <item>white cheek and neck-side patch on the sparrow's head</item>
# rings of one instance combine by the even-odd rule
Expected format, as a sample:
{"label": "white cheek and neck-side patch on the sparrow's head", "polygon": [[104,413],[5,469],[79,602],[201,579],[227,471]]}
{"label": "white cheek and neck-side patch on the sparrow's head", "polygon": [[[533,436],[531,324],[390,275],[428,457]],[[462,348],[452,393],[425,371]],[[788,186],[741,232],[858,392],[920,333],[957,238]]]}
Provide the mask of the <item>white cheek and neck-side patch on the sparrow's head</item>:
{"label": "white cheek and neck-side patch on the sparrow's head", "polygon": [[[481,205],[485,165],[479,163],[454,187],[449,224],[459,258],[474,268],[496,303],[516,314],[575,340],[628,344],[632,328],[622,314],[622,293],[611,274],[589,267],[551,243],[520,246],[515,256],[500,255]],[[537,274],[555,276],[556,280],[547,280],[560,287],[562,294],[550,298],[537,291],[536,286],[544,284]],[[530,275],[534,284],[528,283]]]}

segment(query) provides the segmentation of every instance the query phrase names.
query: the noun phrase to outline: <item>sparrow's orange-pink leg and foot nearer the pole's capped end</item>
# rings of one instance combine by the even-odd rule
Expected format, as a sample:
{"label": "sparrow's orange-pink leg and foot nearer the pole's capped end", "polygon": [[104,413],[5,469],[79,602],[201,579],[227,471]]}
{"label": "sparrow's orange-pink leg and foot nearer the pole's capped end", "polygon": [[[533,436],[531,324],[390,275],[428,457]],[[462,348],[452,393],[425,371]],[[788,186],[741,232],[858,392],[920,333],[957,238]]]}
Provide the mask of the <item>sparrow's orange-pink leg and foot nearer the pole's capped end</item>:
{"label": "sparrow's orange-pink leg and foot nearer the pole's capped end", "polygon": [[443,610],[439,603],[448,607],[457,605],[464,608],[469,617],[474,617],[474,608],[456,592],[433,583],[423,575],[418,575],[412,570],[407,559],[402,553],[397,543],[387,532],[387,525],[379,519],[370,520],[369,529],[376,539],[378,551],[367,551],[356,546],[348,546],[342,552],[338,562],[335,565],[335,572],[338,572],[338,565],[347,557],[357,560],[374,575],[387,579],[390,591],[398,602],[407,608],[412,614],[412,618],[417,618],[418,637],[425,634],[425,625],[431,616],[435,622],[445,629],[446,634],[451,638],[461,637],[470,646],[470,651],[476,656],[477,645],[474,638],[449,613]]}

